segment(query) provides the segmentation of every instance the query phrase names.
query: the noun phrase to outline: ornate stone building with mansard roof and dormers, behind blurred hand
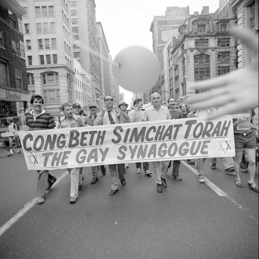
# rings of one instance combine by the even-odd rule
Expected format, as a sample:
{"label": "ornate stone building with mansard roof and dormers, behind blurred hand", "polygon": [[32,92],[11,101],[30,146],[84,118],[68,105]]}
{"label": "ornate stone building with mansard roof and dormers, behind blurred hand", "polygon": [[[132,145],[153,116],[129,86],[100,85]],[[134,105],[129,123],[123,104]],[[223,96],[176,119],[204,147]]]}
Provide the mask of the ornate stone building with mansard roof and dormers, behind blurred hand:
{"label": "ornate stone building with mansard roof and dormers, behind blurred hand", "polygon": [[213,19],[208,6],[179,26],[179,38],[164,48],[165,89],[178,103],[195,94],[192,83],[237,68],[237,40],[231,34],[237,19]]}

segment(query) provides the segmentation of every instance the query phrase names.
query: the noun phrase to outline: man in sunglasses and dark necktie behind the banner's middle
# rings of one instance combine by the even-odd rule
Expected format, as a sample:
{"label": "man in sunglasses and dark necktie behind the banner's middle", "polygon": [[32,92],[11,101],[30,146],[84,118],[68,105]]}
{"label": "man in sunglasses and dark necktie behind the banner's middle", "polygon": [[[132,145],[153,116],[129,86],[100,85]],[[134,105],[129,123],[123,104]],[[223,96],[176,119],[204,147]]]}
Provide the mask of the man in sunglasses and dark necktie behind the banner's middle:
{"label": "man in sunglasses and dark necktie behind the banner's middle", "polygon": [[[130,122],[130,117],[119,108],[114,108],[113,103],[113,97],[111,95],[106,95],[104,97],[104,105],[102,106],[102,111],[98,114],[97,118],[93,122],[94,126]],[[118,167],[118,172],[116,166]],[[126,184],[126,180],[124,178],[124,166],[125,164],[109,165],[110,177],[112,182],[112,190],[110,192],[110,195],[116,194],[116,192],[119,190],[118,178],[120,179],[122,185]]]}

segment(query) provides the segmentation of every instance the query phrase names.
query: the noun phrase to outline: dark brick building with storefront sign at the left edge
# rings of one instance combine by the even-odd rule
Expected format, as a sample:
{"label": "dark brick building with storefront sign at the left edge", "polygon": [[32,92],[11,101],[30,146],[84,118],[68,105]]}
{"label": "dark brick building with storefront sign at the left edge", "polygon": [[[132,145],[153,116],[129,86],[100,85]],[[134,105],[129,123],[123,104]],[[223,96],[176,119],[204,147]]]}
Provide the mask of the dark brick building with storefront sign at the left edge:
{"label": "dark brick building with storefront sign at the left edge", "polygon": [[21,21],[24,14],[15,0],[0,1],[0,117],[24,113],[30,100]]}

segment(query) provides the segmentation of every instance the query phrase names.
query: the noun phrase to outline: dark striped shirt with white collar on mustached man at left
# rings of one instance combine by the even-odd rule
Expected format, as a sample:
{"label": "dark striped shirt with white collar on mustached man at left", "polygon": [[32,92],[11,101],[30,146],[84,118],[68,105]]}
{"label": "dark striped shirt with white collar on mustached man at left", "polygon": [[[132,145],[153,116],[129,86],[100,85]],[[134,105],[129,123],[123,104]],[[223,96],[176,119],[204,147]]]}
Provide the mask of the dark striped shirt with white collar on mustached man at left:
{"label": "dark striped shirt with white collar on mustached man at left", "polygon": [[48,130],[55,128],[56,124],[53,120],[52,114],[42,109],[41,114],[35,117],[33,111],[25,113],[26,125],[30,130]]}

